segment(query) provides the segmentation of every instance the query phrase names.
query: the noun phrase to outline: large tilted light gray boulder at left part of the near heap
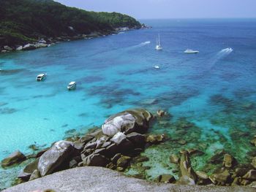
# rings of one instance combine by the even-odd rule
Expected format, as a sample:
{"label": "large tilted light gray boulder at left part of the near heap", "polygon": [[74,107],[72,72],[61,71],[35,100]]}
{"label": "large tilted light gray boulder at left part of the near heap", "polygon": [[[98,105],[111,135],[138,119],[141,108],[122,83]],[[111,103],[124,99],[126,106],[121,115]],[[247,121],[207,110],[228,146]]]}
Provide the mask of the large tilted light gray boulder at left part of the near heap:
{"label": "large tilted light gray boulder at left part of the near heap", "polygon": [[74,150],[75,147],[72,142],[56,142],[39,158],[37,168],[41,176],[53,173],[64,161],[71,158]]}

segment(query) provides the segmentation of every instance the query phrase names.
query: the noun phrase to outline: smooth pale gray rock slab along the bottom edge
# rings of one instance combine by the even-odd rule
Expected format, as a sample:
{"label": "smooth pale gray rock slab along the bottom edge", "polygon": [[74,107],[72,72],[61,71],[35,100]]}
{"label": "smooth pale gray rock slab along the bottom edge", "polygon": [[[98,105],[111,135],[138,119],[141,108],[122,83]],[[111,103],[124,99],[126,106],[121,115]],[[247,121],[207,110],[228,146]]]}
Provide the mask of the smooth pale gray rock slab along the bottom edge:
{"label": "smooth pale gray rock slab along the bottom edge", "polygon": [[174,185],[164,183],[149,183],[126,177],[119,172],[102,167],[86,166],[75,169],[67,169],[62,172],[47,175],[37,180],[22,183],[3,192],[20,192],[52,189],[58,192],[65,191],[200,191],[200,192],[251,192],[255,188],[249,187],[218,187],[199,185]]}

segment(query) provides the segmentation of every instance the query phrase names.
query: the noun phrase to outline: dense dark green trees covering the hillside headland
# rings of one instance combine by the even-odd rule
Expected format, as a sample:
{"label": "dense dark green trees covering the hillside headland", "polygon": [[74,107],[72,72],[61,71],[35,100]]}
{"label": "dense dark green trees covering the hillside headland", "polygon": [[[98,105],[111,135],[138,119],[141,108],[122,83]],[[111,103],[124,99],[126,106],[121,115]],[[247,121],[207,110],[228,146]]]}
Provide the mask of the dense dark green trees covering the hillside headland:
{"label": "dense dark green trees covering the hillside headland", "polygon": [[52,0],[0,0],[0,46],[39,37],[108,33],[117,27],[140,27],[140,23],[128,15],[88,12]]}

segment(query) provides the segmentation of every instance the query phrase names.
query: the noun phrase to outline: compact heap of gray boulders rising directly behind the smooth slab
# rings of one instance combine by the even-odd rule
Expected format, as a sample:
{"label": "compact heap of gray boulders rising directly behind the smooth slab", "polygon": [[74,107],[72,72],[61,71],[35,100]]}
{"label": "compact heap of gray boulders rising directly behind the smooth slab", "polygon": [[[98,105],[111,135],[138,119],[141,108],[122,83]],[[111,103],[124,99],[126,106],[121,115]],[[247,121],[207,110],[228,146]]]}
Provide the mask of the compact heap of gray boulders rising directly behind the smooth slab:
{"label": "compact heap of gray boulders rising directly behind the smooth slab", "polygon": [[138,157],[148,143],[164,141],[163,134],[145,135],[153,118],[143,109],[127,110],[110,116],[102,128],[89,132],[73,142],[61,140],[18,175],[22,181],[34,180],[53,172],[77,166],[104,166],[124,171],[132,158]]}

